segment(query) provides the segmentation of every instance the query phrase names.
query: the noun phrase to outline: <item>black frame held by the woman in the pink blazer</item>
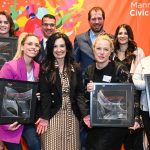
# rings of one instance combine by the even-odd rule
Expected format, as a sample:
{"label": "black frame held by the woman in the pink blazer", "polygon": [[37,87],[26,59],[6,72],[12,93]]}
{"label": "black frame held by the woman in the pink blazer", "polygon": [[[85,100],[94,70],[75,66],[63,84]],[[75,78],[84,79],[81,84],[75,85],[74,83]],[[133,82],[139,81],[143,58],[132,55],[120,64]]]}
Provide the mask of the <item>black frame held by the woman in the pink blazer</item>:
{"label": "black frame held by the woman in the pink blazer", "polygon": [[0,78],[0,124],[34,123],[38,82]]}

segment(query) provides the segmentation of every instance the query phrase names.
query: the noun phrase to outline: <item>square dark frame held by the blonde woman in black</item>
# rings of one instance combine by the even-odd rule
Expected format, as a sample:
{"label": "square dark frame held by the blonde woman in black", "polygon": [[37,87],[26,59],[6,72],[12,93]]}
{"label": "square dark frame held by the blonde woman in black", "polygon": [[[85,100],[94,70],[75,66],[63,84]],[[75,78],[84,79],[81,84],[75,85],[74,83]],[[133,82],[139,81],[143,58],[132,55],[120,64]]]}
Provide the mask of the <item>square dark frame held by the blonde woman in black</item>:
{"label": "square dark frame held by the blonde woman in black", "polygon": [[94,83],[90,93],[92,126],[130,127],[134,123],[132,83]]}

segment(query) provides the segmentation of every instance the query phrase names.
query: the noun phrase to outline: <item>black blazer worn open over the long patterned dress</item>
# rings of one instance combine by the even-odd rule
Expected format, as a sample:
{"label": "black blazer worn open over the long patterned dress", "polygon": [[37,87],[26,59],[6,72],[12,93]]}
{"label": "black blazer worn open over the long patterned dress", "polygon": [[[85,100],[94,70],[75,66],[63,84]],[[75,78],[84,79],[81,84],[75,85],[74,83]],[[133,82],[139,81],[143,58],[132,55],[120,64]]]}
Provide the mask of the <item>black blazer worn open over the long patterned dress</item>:
{"label": "black blazer worn open over the long patterned dress", "polygon": [[[59,72],[57,70],[55,83],[48,83],[47,77],[51,74],[44,75],[40,71],[40,94],[41,94],[41,118],[52,118],[62,106],[62,86]],[[75,116],[80,119],[81,114],[77,104],[77,101],[84,100],[82,84],[82,75],[79,69],[72,70],[70,80],[70,101],[71,107]]]}

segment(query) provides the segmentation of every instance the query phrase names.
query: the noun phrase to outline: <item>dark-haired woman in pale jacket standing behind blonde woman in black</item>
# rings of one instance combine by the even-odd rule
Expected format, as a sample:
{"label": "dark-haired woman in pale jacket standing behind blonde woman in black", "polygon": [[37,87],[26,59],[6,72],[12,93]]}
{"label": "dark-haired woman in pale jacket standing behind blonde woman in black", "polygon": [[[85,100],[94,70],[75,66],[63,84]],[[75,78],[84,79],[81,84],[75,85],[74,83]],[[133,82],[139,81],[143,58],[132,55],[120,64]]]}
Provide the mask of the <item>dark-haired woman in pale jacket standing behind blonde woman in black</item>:
{"label": "dark-haired woman in pale jacket standing behind blonde woman in black", "polygon": [[132,28],[127,24],[117,27],[114,40],[113,60],[125,64],[133,74],[139,61],[144,58],[144,51],[137,47]]}

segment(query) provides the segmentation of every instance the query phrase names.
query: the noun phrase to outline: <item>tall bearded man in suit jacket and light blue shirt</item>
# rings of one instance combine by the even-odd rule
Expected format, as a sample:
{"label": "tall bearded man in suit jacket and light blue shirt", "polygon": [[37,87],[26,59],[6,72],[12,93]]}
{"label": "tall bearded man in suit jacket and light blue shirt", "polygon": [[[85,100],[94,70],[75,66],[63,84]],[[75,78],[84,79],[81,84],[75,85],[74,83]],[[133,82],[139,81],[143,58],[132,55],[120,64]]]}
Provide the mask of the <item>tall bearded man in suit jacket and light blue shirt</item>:
{"label": "tall bearded man in suit jacket and light blue shirt", "polygon": [[92,52],[92,43],[98,34],[105,33],[103,26],[105,21],[105,12],[101,7],[93,7],[88,12],[88,21],[90,29],[87,32],[79,34],[74,40],[74,57],[80,63],[84,72],[87,66],[94,62]]}

